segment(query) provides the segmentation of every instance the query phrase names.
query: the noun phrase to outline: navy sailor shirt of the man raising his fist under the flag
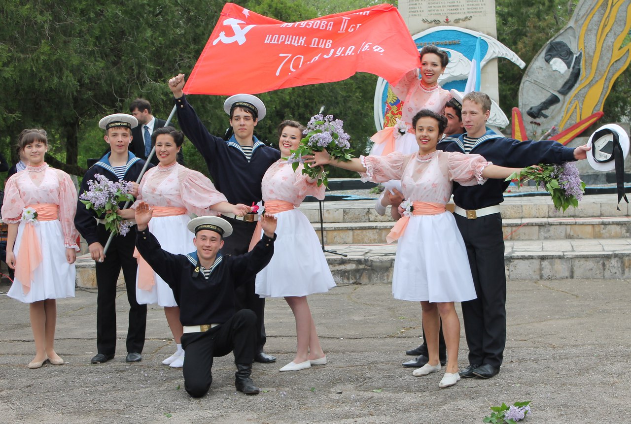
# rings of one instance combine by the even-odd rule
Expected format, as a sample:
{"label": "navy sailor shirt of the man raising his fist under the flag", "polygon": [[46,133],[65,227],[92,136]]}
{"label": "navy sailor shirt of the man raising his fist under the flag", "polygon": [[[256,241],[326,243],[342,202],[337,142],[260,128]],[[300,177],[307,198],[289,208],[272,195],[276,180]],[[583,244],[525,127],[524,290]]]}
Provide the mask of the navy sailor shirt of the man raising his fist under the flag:
{"label": "navy sailor shirt of the man raising his fist under the flag", "polygon": [[234,135],[226,141],[208,132],[186,95],[175,99],[175,105],[180,128],[206,161],[217,190],[233,204],[259,202],[263,175],[280,159],[280,151],[254,137],[252,156],[248,161]]}

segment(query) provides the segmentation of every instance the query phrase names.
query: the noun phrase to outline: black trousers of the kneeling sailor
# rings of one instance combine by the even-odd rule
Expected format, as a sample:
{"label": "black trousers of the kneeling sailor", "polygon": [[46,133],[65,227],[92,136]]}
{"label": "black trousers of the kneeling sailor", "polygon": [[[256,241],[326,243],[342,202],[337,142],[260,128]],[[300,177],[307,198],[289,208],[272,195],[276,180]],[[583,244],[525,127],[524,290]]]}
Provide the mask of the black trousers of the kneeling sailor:
{"label": "black trousers of the kneeling sailor", "polygon": [[225,323],[204,333],[182,335],[184,388],[193,398],[201,398],[213,382],[213,358],[234,352],[235,364],[251,365],[256,354],[256,314],[241,309]]}

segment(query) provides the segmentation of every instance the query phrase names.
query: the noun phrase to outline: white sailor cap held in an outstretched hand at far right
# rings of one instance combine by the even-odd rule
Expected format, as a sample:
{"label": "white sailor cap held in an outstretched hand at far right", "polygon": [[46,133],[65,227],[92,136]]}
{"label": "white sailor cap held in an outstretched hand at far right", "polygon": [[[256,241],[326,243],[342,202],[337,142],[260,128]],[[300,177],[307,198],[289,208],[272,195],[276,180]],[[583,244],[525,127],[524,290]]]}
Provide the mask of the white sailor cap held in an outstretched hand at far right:
{"label": "white sailor cap held in an outstretched hand at far right", "polygon": [[[616,145],[620,146],[620,149],[617,149]],[[627,158],[629,136],[620,125],[608,123],[589,136],[587,146],[591,147],[587,152],[587,162],[592,168],[597,171],[613,171],[616,169],[615,152],[622,154],[622,160]]]}

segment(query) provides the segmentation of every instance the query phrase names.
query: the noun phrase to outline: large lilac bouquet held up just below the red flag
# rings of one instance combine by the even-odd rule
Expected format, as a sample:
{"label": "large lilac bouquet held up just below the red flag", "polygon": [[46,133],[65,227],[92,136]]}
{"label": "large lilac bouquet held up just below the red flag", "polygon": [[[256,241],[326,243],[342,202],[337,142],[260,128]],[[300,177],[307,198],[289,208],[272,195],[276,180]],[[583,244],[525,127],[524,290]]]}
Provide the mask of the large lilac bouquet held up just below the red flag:
{"label": "large lilac bouquet held up just below the red flag", "polygon": [[344,132],[344,122],[334,119],[333,115],[324,117],[322,113],[311,117],[304,134],[305,138],[300,140],[298,149],[292,150],[292,156],[286,159],[292,164],[294,171],[298,168],[298,164],[303,163],[302,173],[317,180],[318,186],[322,184],[328,186],[327,175],[329,171],[320,166],[309,166],[308,163],[302,161],[302,156],[326,149],[331,158],[349,161],[353,152],[353,149],[350,148],[351,144],[348,142],[351,137]]}

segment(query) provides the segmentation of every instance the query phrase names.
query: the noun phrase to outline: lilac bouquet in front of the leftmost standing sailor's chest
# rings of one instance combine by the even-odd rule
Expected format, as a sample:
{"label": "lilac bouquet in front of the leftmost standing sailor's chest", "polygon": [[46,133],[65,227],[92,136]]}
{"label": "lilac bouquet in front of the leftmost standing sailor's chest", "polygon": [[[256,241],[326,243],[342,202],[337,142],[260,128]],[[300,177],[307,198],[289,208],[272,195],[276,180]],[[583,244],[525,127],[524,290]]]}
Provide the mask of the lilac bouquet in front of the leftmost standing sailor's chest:
{"label": "lilac bouquet in front of the leftmost standing sailor's chest", "polygon": [[80,200],[86,209],[92,209],[98,216],[105,214],[105,229],[114,234],[126,236],[131,224],[124,222],[117,214],[120,202],[133,202],[134,197],[129,194],[132,189],[128,181],[110,181],[101,174],[95,174],[94,180],[88,181],[88,190],[81,194]]}

